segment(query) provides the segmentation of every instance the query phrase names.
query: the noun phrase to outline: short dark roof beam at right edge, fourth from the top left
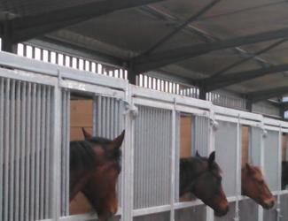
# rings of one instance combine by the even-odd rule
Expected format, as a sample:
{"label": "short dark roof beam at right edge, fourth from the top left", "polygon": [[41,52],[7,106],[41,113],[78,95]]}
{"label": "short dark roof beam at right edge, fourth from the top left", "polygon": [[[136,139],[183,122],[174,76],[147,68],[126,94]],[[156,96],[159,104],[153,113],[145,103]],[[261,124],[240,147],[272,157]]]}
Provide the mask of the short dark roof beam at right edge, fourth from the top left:
{"label": "short dark roof beam at right edge, fourth from the top left", "polygon": [[251,92],[247,94],[247,99],[251,103],[257,103],[285,94],[288,94],[288,86]]}

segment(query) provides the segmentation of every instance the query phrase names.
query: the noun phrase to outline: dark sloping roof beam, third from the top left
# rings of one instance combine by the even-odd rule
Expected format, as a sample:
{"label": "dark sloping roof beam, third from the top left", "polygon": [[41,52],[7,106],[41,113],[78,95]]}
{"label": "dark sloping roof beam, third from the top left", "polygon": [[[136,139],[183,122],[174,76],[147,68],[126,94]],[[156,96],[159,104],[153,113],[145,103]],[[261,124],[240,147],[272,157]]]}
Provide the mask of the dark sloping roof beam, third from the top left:
{"label": "dark sloping roof beam, third from the top left", "polygon": [[202,81],[202,86],[206,88],[206,91],[213,91],[219,88],[228,87],[233,84],[237,84],[246,80],[253,80],[255,78],[262,77],[267,74],[288,71],[288,65],[276,65],[267,68],[253,69],[245,72],[234,72],[218,76],[217,78],[208,78]]}

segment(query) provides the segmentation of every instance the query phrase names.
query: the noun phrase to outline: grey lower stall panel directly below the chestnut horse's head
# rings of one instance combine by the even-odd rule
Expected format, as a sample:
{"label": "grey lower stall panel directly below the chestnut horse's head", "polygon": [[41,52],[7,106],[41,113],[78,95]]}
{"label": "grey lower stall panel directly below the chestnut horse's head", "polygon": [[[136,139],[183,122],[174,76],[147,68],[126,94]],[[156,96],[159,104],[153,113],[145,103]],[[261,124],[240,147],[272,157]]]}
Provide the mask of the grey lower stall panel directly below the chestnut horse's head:
{"label": "grey lower stall panel directly below the chestnut horse's head", "polygon": [[258,220],[258,204],[251,199],[239,202],[240,220],[256,221]]}

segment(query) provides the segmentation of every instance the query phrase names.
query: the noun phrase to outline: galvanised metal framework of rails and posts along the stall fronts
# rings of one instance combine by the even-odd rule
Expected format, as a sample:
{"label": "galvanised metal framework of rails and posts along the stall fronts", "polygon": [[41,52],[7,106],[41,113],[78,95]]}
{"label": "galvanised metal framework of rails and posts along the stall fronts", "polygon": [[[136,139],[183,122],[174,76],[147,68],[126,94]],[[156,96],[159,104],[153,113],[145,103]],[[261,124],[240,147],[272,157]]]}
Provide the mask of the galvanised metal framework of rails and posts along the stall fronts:
{"label": "galvanised metal framework of rails and posts along the stall fronts", "polygon": [[[52,171],[52,197],[53,202],[51,204],[51,219],[47,220],[88,220],[95,218],[94,215],[78,215],[78,216],[68,216],[60,217],[60,174],[58,168],[60,167],[60,154],[57,148],[60,145],[59,137],[59,118],[60,118],[60,105],[61,100],[58,99],[61,96],[62,88],[69,88],[70,90],[77,90],[83,92],[89,92],[93,94],[108,95],[112,97],[119,97],[126,103],[126,110],[124,111],[124,126],[126,129],[125,143],[123,145],[123,171],[122,179],[125,185],[121,186],[122,193],[122,208],[118,211],[118,215],[121,215],[122,220],[132,220],[133,217],[139,217],[149,214],[156,214],[163,211],[170,211],[170,220],[174,219],[174,211],[183,208],[191,208],[193,206],[202,205],[203,203],[199,200],[195,202],[175,202],[175,167],[176,153],[175,147],[177,137],[176,137],[176,126],[175,119],[178,111],[207,116],[212,120],[212,126],[209,131],[209,151],[214,150],[214,135],[215,129],[217,127],[216,120],[222,120],[226,122],[233,122],[237,124],[237,156],[236,161],[239,166],[240,162],[240,127],[241,124],[249,126],[259,126],[261,128],[278,131],[281,135],[282,132],[288,132],[288,123],[271,118],[263,118],[260,114],[249,113],[242,110],[231,110],[224,107],[215,106],[214,104],[201,101],[194,98],[183,97],[181,95],[171,95],[165,92],[154,91],[147,88],[139,88],[128,84],[127,80],[113,79],[111,77],[102,76],[98,74],[91,74],[81,71],[77,71],[71,68],[66,68],[58,65],[51,65],[43,63],[40,61],[35,61],[28,59],[26,57],[18,57],[15,55],[7,54],[4,52],[0,53],[0,58],[4,58],[0,61],[0,65],[6,65],[14,69],[19,69],[18,71],[6,70],[4,68],[0,69],[0,76],[4,78],[11,78],[15,80],[25,80],[28,82],[42,83],[44,85],[53,86],[54,99],[51,101],[53,105],[53,116],[54,121],[52,126],[54,128],[51,135],[53,137],[53,149],[51,155],[51,171]],[[17,65],[15,65],[17,64]],[[23,72],[23,70],[25,72]],[[134,159],[134,119],[137,116],[136,104],[141,104],[144,106],[152,106],[160,109],[167,109],[172,111],[172,136],[171,136],[171,179],[170,179],[170,191],[171,198],[170,203],[167,205],[161,205],[154,208],[144,208],[140,210],[133,210],[133,175],[134,169],[131,167]],[[264,141],[261,137],[261,165],[264,164],[263,158],[263,148]],[[279,148],[280,148],[279,140]],[[1,147],[1,146],[0,146]],[[280,164],[280,152],[278,156],[278,166]],[[237,180],[240,180],[240,168],[235,168],[237,173]],[[278,171],[278,179],[281,171]],[[279,180],[278,180],[279,181]],[[279,185],[278,185],[279,186]],[[228,198],[229,202],[236,202],[236,218],[237,218],[237,203],[239,201],[247,199],[239,193],[240,186],[237,185],[237,193],[234,196]],[[273,194],[287,194],[288,192],[278,191]],[[278,200],[280,198],[278,197]],[[280,214],[280,213],[279,213]],[[210,209],[206,210],[207,220],[214,220],[212,212]],[[259,221],[262,220],[262,210],[259,210]]]}

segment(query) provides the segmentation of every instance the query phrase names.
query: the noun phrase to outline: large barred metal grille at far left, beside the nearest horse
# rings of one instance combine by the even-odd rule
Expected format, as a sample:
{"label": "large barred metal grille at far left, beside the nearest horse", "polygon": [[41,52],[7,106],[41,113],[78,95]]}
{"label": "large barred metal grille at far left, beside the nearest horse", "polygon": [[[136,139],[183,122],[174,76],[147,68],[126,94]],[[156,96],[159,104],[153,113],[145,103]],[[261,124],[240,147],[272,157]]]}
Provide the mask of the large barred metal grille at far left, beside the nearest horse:
{"label": "large barred metal grille at far left, beside the nearest horse", "polygon": [[49,86],[0,78],[0,217],[50,218]]}

